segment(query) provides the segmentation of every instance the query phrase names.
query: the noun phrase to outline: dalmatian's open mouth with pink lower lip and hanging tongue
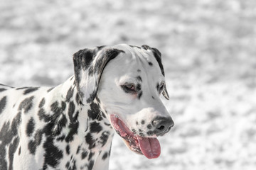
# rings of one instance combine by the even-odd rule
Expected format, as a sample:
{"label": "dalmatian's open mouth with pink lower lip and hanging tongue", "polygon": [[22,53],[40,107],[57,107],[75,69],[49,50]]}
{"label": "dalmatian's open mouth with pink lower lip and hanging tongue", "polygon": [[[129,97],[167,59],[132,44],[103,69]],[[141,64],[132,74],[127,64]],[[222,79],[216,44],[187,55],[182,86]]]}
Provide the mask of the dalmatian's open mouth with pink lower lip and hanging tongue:
{"label": "dalmatian's open mouth with pink lower lip and hanging tongue", "polygon": [[159,140],[156,137],[141,137],[135,135],[117,115],[110,115],[111,123],[117,133],[124,139],[124,143],[137,154],[143,154],[148,159],[154,159],[161,154]]}

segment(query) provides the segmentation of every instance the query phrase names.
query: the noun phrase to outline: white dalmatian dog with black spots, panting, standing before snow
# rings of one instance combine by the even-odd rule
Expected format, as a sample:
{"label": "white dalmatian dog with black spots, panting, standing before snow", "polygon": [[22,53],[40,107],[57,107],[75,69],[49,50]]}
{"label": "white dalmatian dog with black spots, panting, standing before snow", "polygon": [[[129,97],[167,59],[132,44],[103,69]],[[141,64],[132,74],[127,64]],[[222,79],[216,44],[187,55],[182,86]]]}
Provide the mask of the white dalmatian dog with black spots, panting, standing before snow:
{"label": "white dalmatian dog with black spots, panting, standing before snow", "polygon": [[174,122],[159,50],[101,46],[73,55],[54,88],[0,86],[0,169],[108,169],[115,132],[149,159]]}

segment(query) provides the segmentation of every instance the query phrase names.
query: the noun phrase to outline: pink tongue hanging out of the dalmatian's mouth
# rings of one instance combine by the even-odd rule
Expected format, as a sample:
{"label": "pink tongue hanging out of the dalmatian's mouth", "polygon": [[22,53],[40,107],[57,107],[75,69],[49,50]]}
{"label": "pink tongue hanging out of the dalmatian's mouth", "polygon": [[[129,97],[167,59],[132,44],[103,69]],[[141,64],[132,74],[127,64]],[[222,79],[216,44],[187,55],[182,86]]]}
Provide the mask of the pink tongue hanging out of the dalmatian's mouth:
{"label": "pink tongue hanging out of the dalmatian's mouth", "polygon": [[148,159],[153,159],[159,157],[161,154],[161,147],[159,140],[154,137],[140,137],[137,136],[139,141],[139,148],[142,150],[142,153]]}

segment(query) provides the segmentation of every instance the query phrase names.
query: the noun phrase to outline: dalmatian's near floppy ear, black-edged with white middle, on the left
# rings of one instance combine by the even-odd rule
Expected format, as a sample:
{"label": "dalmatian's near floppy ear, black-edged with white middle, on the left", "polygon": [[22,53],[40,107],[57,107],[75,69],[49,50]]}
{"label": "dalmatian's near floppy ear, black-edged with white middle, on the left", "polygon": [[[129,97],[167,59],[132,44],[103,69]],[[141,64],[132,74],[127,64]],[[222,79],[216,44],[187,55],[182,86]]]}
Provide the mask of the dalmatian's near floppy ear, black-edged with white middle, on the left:
{"label": "dalmatian's near floppy ear, black-edged with white middle, on the left", "polygon": [[107,62],[120,52],[124,51],[101,46],[80,50],[73,55],[75,84],[83,104],[90,104],[95,99]]}

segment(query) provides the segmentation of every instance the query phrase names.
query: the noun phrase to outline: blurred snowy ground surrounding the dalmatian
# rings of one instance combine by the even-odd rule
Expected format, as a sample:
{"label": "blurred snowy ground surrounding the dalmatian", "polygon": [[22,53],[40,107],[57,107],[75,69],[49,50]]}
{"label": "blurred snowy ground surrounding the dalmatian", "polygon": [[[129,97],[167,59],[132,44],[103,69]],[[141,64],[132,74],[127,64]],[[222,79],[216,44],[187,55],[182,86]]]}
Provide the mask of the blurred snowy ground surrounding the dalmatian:
{"label": "blurred snowy ground surrounding the dalmatian", "polygon": [[116,135],[110,169],[256,168],[255,0],[2,0],[0,11],[2,84],[60,84],[85,47],[162,52],[176,126],[154,160]]}

